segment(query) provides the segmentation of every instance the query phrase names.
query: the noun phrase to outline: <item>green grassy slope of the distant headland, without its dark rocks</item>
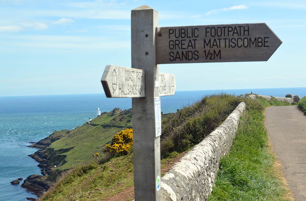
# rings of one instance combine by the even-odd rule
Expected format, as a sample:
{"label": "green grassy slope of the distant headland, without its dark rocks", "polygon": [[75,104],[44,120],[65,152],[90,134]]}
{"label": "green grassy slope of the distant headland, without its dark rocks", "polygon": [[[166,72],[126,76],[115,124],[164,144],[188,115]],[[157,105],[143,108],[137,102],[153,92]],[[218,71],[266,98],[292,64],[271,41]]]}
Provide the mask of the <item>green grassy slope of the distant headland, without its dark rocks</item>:
{"label": "green grassy slope of the distant headland, without its dark rocks", "polygon": [[67,162],[55,169],[69,169],[81,163],[90,162],[93,159],[93,153],[101,153],[101,148],[112,140],[112,136],[124,129],[96,124],[131,126],[131,117],[131,110],[121,111],[121,109],[116,108],[93,119],[90,124],[84,123],[82,126],[76,127],[71,131],[62,130],[54,132],[54,135],[62,135],[63,137],[53,141],[50,148],[54,149],[54,151],[60,149],[69,150],[58,154],[65,155]]}

